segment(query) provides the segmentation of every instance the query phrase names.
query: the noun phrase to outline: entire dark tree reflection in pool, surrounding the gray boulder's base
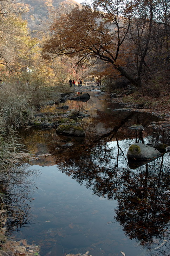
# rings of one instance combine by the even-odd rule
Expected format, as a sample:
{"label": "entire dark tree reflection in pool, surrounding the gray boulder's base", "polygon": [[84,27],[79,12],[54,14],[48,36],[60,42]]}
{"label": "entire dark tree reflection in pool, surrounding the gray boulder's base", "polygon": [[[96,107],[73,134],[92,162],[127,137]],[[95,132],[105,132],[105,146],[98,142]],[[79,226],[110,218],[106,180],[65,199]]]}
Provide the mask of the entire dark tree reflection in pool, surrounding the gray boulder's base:
{"label": "entire dark tree reflection in pool, surrounding the gray boulder's base", "polygon": [[[169,233],[169,153],[133,171],[125,155],[133,140],[115,140],[98,141],[86,151],[67,152],[67,161],[58,167],[95,195],[117,199],[116,220],[126,235],[138,238],[147,249],[156,248]],[[164,247],[159,250],[167,255]]]}

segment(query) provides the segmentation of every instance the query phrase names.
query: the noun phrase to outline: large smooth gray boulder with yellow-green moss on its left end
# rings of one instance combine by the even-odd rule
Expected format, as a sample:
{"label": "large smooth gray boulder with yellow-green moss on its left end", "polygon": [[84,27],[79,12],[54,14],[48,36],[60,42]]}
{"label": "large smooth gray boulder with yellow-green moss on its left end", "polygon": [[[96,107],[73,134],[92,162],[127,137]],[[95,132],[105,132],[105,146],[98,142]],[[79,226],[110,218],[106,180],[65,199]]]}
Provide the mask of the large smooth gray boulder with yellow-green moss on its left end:
{"label": "large smooth gray boulder with yellow-green moss on its left end", "polygon": [[156,148],[152,148],[142,143],[132,144],[129,147],[129,150],[127,152],[128,158],[141,159],[141,160],[154,159],[161,155],[162,155],[161,152],[159,152]]}

